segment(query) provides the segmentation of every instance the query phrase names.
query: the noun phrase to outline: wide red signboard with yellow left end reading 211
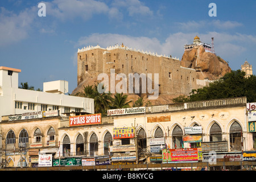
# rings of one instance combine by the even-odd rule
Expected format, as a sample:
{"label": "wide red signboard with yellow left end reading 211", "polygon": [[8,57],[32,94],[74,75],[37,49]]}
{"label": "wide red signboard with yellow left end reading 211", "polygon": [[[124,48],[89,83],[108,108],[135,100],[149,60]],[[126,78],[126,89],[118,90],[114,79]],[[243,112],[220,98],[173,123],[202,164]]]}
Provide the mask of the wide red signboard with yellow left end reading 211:
{"label": "wide red signboard with yellow left end reading 211", "polygon": [[162,152],[164,162],[198,161],[201,158],[201,148],[166,149]]}

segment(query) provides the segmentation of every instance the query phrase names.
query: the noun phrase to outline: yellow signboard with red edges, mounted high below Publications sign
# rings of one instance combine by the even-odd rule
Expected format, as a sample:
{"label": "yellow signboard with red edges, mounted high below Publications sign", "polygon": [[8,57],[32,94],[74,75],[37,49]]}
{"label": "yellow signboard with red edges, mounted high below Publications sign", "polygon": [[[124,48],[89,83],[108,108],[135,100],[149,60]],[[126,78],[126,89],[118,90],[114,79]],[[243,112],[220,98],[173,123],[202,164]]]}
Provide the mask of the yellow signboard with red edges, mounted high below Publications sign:
{"label": "yellow signboard with red edges, mounted high below Publications sign", "polygon": [[121,127],[113,129],[113,139],[134,138],[134,127]]}

